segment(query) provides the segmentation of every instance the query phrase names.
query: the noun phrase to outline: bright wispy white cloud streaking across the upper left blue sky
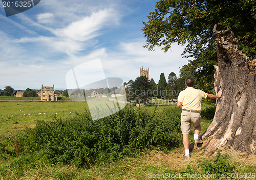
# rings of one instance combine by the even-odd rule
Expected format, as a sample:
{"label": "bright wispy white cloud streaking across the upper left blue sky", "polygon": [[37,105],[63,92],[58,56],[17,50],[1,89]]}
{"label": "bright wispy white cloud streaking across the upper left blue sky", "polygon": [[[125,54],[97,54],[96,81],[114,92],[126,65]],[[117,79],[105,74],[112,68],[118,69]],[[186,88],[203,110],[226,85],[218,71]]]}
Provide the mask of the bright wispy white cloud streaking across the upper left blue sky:
{"label": "bright wispy white cloud streaking across the upper left blue sky", "polygon": [[[24,19],[29,19],[24,16]],[[52,18],[51,13],[39,14],[37,21],[45,21]],[[33,20],[28,21],[33,26],[45,29],[53,33],[55,36],[36,36],[36,37],[23,37],[15,39],[17,43],[36,43],[35,46],[39,47],[41,52],[48,54],[52,53],[66,53],[73,56],[87,47],[94,46],[97,41],[94,40],[96,36],[100,35],[99,31],[105,27],[111,27],[119,23],[120,16],[113,9],[99,10],[92,13],[90,16],[83,17],[82,19],[71,22],[62,29],[52,29],[44,25],[40,25]]]}

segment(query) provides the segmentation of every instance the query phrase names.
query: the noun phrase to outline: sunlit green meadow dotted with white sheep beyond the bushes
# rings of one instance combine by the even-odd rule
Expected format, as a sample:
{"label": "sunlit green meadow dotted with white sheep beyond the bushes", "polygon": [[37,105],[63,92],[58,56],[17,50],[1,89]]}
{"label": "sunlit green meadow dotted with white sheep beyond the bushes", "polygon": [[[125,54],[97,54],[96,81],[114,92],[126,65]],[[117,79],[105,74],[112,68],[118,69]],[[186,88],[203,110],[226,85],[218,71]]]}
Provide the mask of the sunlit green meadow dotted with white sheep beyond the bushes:
{"label": "sunlit green meadow dotted with white sheep beyond the bushes", "polygon": [[72,117],[86,108],[84,101],[0,101],[0,134],[18,133],[40,119]]}

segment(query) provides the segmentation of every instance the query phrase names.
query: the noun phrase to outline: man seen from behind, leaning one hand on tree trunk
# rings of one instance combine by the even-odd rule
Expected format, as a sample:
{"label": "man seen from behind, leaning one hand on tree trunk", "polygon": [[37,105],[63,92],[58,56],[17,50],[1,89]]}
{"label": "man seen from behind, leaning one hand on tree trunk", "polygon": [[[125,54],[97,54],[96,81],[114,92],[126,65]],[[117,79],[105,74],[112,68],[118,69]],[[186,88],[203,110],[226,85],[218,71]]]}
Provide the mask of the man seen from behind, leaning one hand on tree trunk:
{"label": "man seen from behind, leaning one hand on tree trunk", "polygon": [[203,143],[203,141],[199,139],[199,134],[201,131],[200,111],[202,98],[216,99],[222,95],[222,90],[220,90],[217,95],[214,95],[207,94],[200,89],[194,89],[193,86],[194,80],[191,78],[186,79],[186,89],[180,92],[177,103],[177,106],[182,109],[180,127],[183,135],[183,145],[185,149],[185,155],[183,157],[186,159],[190,158],[188,149],[188,134],[190,133],[191,123],[195,127],[195,143]]}

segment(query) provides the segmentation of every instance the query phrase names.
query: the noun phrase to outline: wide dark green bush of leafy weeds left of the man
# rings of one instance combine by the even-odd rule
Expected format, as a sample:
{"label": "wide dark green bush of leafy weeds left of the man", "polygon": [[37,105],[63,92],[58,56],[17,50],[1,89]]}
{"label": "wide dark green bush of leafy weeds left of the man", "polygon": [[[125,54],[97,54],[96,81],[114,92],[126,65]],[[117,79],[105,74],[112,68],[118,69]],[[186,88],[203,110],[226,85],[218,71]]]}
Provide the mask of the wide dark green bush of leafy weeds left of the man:
{"label": "wide dark green bush of leafy weeds left of the man", "polygon": [[38,120],[20,141],[30,151],[42,151],[52,162],[80,167],[152,148],[167,150],[180,144],[179,134],[180,115],[175,109],[159,113],[126,107],[96,121],[89,112],[66,120]]}

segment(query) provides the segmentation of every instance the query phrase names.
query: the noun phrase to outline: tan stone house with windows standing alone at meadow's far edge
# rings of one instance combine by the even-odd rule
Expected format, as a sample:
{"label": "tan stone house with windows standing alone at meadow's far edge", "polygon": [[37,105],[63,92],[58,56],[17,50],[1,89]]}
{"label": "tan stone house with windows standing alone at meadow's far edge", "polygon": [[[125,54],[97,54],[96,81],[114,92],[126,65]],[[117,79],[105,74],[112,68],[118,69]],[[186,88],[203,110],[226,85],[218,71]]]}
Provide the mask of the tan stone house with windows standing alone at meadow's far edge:
{"label": "tan stone house with windows standing alone at meadow's far edge", "polygon": [[36,91],[38,96],[41,97],[42,101],[57,101],[58,95],[54,94],[53,86],[41,86],[41,91]]}

